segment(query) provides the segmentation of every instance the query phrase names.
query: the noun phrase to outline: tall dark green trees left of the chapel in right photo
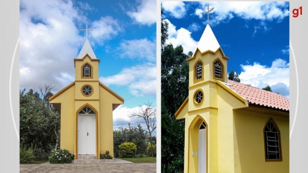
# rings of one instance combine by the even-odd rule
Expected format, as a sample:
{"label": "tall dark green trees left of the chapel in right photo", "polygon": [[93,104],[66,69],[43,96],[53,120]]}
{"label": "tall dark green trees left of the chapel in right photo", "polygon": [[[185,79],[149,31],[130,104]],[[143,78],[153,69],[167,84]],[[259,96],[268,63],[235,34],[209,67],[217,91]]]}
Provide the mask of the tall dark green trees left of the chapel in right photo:
{"label": "tall dark green trees left of the chapel in right photo", "polygon": [[[167,38],[168,25],[161,20],[162,37]],[[192,55],[183,52],[183,47],[174,48],[162,42],[161,50],[161,114],[162,172],[178,172],[184,163],[185,121],[176,120],[175,112],[188,96],[188,62]]]}

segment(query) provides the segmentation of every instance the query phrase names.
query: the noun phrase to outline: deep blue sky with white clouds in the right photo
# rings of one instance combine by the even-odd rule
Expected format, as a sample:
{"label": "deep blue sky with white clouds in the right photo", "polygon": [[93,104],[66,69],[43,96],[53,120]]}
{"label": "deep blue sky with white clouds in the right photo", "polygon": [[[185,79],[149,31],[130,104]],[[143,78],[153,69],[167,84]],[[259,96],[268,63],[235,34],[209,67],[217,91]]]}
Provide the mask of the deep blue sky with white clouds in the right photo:
{"label": "deep blue sky with white clouds in the right photo", "polygon": [[239,74],[241,83],[289,97],[289,3],[288,2],[162,2],[169,23],[168,41],[194,51],[207,24],[224,54],[228,72]]}

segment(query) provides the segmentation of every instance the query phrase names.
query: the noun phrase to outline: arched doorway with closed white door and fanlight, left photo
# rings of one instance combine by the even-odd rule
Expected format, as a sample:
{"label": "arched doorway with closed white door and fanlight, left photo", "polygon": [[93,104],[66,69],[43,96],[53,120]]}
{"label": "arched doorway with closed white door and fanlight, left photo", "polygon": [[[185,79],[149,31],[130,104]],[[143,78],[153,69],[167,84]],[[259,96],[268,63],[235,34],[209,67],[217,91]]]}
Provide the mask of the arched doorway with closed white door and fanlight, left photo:
{"label": "arched doorway with closed white door and fanlight, left photo", "polygon": [[78,154],[96,155],[95,112],[88,106],[78,113]]}

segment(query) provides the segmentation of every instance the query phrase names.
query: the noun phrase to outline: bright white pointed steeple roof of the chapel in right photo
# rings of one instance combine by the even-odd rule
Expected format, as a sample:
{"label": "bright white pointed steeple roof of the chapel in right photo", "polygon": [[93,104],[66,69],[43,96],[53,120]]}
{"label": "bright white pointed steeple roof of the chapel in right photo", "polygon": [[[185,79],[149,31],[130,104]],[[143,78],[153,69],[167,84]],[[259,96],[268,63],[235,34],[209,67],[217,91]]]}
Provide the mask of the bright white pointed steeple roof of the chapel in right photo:
{"label": "bright white pointed steeple roof of the chapel in right photo", "polygon": [[213,31],[210,26],[207,24],[205,30],[200,38],[200,41],[197,45],[197,48],[200,52],[205,52],[207,50],[211,50],[215,52],[220,47]]}

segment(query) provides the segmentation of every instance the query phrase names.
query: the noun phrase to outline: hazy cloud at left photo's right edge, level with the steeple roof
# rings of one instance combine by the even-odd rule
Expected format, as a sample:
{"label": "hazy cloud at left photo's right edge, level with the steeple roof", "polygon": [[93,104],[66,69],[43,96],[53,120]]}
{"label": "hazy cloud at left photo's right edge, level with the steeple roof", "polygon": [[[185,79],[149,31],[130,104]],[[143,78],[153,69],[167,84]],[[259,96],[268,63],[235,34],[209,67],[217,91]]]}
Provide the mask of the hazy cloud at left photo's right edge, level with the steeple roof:
{"label": "hazy cloud at left photo's right edge, level with the steeple roof", "polygon": [[118,48],[121,57],[130,59],[143,59],[156,62],[156,42],[147,39],[124,40]]}

